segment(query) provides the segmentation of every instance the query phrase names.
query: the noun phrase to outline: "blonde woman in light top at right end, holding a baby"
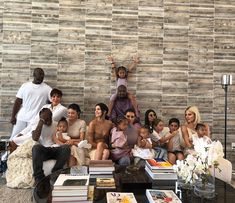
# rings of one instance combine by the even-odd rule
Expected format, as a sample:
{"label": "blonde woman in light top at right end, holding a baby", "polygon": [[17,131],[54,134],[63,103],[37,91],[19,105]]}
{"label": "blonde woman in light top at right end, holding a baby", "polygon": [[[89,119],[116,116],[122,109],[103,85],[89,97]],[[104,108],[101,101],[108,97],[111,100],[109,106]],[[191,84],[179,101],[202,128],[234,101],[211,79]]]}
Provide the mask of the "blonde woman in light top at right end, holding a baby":
{"label": "blonde woman in light top at right end, holding a baby", "polygon": [[[193,147],[193,134],[196,134],[196,126],[201,122],[201,116],[196,106],[189,106],[185,110],[185,124],[180,129],[180,145],[184,149]],[[210,137],[209,126],[206,125],[206,135]]]}

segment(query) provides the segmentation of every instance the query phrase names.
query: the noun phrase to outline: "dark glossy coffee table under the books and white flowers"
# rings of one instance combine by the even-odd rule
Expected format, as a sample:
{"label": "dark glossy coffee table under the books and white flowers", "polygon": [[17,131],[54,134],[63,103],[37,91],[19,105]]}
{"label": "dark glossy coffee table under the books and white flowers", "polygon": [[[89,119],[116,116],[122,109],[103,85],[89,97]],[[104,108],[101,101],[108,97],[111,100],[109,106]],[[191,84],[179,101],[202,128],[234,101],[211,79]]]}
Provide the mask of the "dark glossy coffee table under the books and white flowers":
{"label": "dark glossy coffee table under the books and white flowers", "polygon": [[[70,169],[63,169],[52,173],[40,181],[33,191],[34,200],[37,203],[50,203],[51,193],[54,182],[61,173],[70,173]],[[106,203],[107,192],[133,192],[138,203],[147,203],[145,195],[146,189],[173,190],[175,191],[175,181],[152,180],[144,168],[128,171],[125,167],[116,166],[114,172],[116,189],[96,189],[94,190],[94,203]],[[96,184],[96,178],[90,178],[90,185]],[[183,203],[228,203],[235,199],[235,189],[218,179],[215,181],[216,195],[215,198],[207,200],[196,197],[192,190],[182,190]]]}

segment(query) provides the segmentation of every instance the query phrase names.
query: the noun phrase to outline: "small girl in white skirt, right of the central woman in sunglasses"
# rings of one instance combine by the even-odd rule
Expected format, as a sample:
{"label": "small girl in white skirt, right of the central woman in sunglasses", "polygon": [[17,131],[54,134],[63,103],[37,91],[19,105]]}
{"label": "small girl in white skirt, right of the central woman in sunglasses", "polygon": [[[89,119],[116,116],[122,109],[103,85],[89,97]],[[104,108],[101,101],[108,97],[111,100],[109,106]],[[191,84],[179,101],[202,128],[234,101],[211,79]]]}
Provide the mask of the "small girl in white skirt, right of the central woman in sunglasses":
{"label": "small girl in white skirt, right of the central woman in sunglasses", "polygon": [[144,165],[145,159],[152,159],[155,157],[155,151],[152,149],[152,141],[147,126],[140,128],[137,146],[132,150],[132,153],[135,157],[134,163],[136,165]]}

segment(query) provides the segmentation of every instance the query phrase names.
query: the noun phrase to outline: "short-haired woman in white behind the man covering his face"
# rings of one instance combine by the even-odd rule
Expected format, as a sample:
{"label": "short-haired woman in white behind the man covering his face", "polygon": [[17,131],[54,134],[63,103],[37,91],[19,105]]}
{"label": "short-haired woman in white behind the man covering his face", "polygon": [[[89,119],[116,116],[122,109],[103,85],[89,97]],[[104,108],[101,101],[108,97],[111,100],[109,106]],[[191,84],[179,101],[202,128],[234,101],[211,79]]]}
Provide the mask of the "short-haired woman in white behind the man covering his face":
{"label": "short-haired woman in white behind the man covering his face", "polygon": [[[58,122],[62,117],[67,117],[67,108],[61,105],[61,99],[62,99],[62,92],[58,89],[52,89],[50,96],[51,96],[51,104],[46,104],[42,107],[48,108],[52,112],[52,119],[53,121]],[[9,143],[10,144],[10,151],[14,151],[17,146],[23,144],[26,140],[31,138],[32,130],[34,129],[34,126],[37,125],[39,118],[38,115],[33,118],[30,121],[30,124],[20,132],[19,135],[13,138],[13,140]]]}

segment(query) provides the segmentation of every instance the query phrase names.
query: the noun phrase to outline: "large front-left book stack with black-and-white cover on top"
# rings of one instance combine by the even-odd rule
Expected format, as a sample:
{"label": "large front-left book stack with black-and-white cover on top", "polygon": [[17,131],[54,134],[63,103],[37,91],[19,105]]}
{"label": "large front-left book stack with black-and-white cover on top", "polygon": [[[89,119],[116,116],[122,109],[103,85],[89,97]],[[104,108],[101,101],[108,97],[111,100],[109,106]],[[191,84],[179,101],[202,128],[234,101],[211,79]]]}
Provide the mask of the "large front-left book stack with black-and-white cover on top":
{"label": "large front-left book stack with black-and-white cover on top", "polygon": [[89,175],[60,174],[54,183],[52,202],[92,202],[94,188],[88,186],[89,178]]}

